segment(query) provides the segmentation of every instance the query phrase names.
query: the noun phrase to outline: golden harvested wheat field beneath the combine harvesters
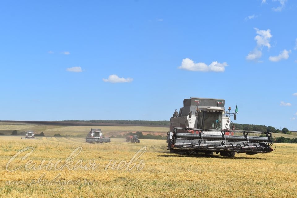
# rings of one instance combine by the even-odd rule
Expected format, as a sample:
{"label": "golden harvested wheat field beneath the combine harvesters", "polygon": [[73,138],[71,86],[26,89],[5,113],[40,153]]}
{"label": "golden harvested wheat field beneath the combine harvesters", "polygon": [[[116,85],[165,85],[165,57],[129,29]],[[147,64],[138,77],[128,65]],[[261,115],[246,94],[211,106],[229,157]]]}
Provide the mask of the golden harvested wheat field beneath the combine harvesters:
{"label": "golden harvested wheat field beneath the combine harvesters", "polygon": [[[1,197],[297,196],[297,144],[227,158],[169,153],[166,140],[87,144],[84,138],[0,138]],[[109,162],[114,166],[106,166]]]}

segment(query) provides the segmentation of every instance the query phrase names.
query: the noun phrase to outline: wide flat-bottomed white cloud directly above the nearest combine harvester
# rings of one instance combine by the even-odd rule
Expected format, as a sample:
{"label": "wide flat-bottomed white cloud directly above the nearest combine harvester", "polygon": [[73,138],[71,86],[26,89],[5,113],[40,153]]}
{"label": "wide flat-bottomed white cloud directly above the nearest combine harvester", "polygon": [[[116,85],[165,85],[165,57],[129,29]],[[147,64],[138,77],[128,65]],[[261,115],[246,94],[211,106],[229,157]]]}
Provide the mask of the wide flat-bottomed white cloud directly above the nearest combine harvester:
{"label": "wide flat-bottomed white cloud directly above the nearest combine harvester", "polygon": [[179,66],[179,69],[184,69],[188,71],[214,71],[214,72],[223,72],[225,67],[228,66],[226,62],[219,63],[213,61],[210,65],[206,65],[204,62],[195,63],[190,58],[185,58],[182,61],[182,65]]}

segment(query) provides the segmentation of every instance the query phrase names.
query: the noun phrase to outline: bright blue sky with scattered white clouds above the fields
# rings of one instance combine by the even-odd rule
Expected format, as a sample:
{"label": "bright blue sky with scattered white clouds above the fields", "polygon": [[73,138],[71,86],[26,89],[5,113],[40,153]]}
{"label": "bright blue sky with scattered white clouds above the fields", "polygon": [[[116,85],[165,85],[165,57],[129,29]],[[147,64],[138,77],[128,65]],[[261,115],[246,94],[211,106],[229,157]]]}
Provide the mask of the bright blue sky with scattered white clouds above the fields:
{"label": "bright blue sky with scattered white clouds above the fields", "polygon": [[1,120],[169,120],[205,97],[297,130],[295,1],[1,1],[0,17]]}

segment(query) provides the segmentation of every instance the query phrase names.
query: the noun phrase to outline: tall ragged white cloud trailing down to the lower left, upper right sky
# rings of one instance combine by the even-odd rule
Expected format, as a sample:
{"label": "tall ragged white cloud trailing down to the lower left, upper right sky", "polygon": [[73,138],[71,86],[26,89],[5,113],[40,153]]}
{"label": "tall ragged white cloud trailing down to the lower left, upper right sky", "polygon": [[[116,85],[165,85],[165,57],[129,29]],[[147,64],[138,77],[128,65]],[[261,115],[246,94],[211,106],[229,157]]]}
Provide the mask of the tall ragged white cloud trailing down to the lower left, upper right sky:
{"label": "tall ragged white cloud trailing down to the lower left, upper right sky", "polygon": [[254,38],[257,46],[253,51],[245,57],[247,60],[257,60],[262,56],[262,48],[264,46],[270,49],[270,38],[272,37],[270,29],[267,30],[259,30],[258,28],[254,28],[256,30],[256,37]]}

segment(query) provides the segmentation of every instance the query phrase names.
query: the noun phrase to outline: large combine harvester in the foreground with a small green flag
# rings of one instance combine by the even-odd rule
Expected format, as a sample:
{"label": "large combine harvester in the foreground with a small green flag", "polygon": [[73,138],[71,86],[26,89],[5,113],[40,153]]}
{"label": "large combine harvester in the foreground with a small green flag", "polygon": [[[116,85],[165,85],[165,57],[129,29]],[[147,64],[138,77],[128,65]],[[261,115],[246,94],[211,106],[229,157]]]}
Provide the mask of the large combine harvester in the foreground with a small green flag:
{"label": "large combine harvester in the foreground with a small green flag", "polygon": [[270,153],[272,134],[258,131],[235,131],[230,116],[236,120],[235,113],[225,112],[225,100],[210,98],[184,99],[179,112],[175,110],[170,119],[167,134],[171,153],[186,154],[216,152],[221,156],[234,157],[235,153]]}

